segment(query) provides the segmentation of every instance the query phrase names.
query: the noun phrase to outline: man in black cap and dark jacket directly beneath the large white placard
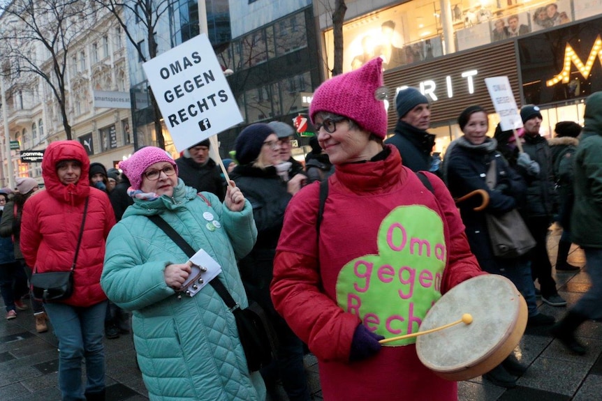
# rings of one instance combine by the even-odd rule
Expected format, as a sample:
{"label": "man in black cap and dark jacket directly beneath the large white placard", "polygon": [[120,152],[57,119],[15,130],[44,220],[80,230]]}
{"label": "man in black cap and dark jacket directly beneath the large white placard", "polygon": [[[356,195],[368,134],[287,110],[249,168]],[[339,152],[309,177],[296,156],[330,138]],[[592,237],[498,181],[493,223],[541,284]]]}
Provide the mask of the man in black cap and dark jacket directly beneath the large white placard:
{"label": "man in black cap and dark jacket directly beneath the large white placard", "polygon": [[221,171],[216,162],[209,157],[209,139],[198,142],[182,152],[182,157],[175,160],[177,175],[187,186],[198,192],[212,192],[223,201],[224,192]]}

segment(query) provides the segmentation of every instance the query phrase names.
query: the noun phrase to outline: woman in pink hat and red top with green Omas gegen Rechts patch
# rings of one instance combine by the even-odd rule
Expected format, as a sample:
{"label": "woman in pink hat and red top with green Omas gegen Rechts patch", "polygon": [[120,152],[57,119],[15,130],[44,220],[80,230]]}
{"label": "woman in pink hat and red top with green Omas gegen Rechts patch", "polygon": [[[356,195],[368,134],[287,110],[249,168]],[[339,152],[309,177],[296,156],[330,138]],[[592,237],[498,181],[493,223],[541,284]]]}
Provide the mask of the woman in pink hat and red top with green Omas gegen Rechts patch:
{"label": "woman in pink hat and red top with green Omas gegen Rechts patch", "polygon": [[[443,182],[428,172],[421,182],[383,144],[382,70],[374,59],[314,93],[309,114],[335,174],[288,204],[272,300],[318,358],[324,400],[456,400],[455,382],[418,360],[416,339],[379,343],[418,331],[442,294],[483,274]],[[411,238],[443,252],[415,252]]]}

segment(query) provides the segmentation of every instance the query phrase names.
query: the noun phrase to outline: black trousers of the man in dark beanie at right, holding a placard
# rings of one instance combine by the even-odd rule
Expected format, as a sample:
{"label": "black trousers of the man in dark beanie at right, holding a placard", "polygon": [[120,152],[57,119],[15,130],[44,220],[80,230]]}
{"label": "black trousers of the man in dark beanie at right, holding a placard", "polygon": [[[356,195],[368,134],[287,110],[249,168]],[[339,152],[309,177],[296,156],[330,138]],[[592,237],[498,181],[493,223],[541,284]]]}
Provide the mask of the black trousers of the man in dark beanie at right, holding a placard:
{"label": "black trousers of the man in dark beanie at right, holding a placard", "polygon": [[550,264],[550,257],[548,257],[547,240],[550,219],[545,216],[536,216],[526,218],[524,222],[536,241],[535,248],[531,249],[528,254],[531,261],[533,280],[537,279],[539,281],[541,296],[544,298],[558,294],[556,282],[552,278],[552,264]]}

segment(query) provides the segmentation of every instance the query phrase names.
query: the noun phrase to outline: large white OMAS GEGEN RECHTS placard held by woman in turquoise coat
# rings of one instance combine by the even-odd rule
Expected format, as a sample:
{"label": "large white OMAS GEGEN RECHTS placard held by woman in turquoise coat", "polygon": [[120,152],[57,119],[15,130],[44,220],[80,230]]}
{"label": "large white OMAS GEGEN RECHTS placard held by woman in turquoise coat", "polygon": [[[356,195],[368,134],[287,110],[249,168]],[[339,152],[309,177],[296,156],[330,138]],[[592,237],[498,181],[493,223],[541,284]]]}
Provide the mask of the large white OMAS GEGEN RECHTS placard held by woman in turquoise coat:
{"label": "large white OMAS GEGEN RECHTS placard held by woman in turquoise coat", "polygon": [[207,35],[142,64],[178,151],[242,122]]}

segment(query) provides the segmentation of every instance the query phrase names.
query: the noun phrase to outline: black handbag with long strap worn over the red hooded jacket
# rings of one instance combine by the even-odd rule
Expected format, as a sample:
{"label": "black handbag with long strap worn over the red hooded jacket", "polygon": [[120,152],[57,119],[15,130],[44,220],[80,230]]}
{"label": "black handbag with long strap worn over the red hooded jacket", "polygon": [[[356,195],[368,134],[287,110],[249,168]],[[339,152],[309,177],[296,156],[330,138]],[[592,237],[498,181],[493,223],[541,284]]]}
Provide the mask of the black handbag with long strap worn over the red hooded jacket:
{"label": "black handbag with long strap worn over the red hooded jacket", "polygon": [[87,210],[88,198],[86,198],[84,205],[84,217],[82,218],[78,246],[75,248],[75,257],[73,258],[71,270],[38,273],[38,268],[36,267],[34,273],[31,274],[29,285],[31,285],[31,294],[33,294],[37,301],[63,301],[73,294],[73,271],[75,270],[75,264],[78,262],[78,253],[80,252],[80,243],[82,242],[82,235],[84,234]]}

